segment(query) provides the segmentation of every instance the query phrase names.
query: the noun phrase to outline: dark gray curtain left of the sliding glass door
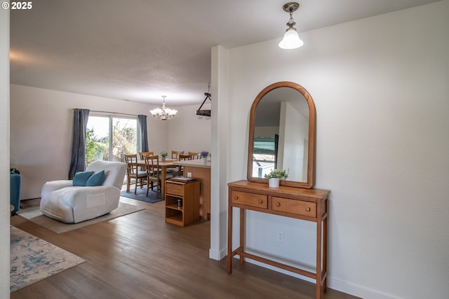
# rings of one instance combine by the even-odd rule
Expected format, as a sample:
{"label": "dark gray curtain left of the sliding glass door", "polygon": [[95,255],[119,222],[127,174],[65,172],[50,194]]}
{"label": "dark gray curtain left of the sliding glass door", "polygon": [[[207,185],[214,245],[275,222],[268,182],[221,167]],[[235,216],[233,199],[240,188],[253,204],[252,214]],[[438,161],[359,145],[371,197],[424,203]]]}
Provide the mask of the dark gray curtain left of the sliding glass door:
{"label": "dark gray curtain left of the sliding glass door", "polygon": [[69,179],[73,179],[76,172],[83,172],[86,169],[86,128],[88,118],[89,109],[74,109]]}

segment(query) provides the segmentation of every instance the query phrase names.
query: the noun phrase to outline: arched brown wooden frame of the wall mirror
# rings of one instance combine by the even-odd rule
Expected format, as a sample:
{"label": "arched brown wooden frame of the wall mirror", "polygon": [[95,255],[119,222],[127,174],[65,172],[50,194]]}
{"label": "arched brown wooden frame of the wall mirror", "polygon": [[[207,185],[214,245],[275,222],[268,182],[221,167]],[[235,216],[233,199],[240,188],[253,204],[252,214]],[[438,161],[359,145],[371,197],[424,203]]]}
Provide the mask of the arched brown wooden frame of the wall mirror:
{"label": "arched brown wooden frame of the wall mirror", "polygon": [[253,151],[254,151],[254,131],[255,131],[255,111],[257,108],[257,104],[259,104],[260,100],[267,95],[268,92],[275,90],[276,88],[293,88],[300,92],[304,99],[307,101],[307,105],[309,106],[309,152],[307,157],[307,181],[288,181],[281,180],[280,186],[290,186],[296,188],[307,188],[311,189],[314,187],[314,179],[315,179],[315,130],[316,130],[316,109],[314,100],[311,98],[311,95],[305,88],[301,85],[289,81],[281,81],[277,83],[273,83],[272,85],[267,86],[262,90],[253,102],[250,111],[250,131],[248,137],[248,169],[246,178],[248,181],[258,182],[258,183],[268,183],[268,179],[258,178],[253,176]]}

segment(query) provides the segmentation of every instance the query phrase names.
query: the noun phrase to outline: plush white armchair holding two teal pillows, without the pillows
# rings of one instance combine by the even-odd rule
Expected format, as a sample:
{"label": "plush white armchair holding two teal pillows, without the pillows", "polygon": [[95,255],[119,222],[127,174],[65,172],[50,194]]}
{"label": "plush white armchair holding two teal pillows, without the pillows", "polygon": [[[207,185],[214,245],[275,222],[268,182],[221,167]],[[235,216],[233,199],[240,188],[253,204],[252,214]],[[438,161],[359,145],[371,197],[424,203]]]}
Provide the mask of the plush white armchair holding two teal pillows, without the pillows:
{"label": "plush white armchair holding two teal pillows, without the pillows", "polygon": [[73,186],[72,180],[48,181],[41,190],[42,214],[65,223],[79,223],[119,207],[126,163],[95,161],[86,169],[105,171],[101,186]]}

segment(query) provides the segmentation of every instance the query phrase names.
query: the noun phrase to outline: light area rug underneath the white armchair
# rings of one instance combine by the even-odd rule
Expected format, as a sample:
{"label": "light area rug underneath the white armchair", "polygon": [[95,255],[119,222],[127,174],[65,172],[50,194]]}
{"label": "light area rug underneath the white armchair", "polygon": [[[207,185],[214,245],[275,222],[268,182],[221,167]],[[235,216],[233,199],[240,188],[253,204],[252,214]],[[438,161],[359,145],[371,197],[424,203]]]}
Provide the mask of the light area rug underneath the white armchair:
{"label": "light area rug underneath the white armchair", "polygon": [[68,232],[70,230],[77,230],[88,225],[99,223],[102,221],[111,220],[126,214],[131,214],[136,211],[142,211],[145,208],[135,207],[133,204],[126,204],[124,202],[119,202],[119,207],[114,209],[114,211],[109,214],[93,218],[91,220],[86,220],[80,223],[62,223],[50,217],[47,217],[39,211],[39,207],[29,207],[26,209],[20,209],[17,214],[33,223],[43,226],[48,230],[61,234],[62,232]]}

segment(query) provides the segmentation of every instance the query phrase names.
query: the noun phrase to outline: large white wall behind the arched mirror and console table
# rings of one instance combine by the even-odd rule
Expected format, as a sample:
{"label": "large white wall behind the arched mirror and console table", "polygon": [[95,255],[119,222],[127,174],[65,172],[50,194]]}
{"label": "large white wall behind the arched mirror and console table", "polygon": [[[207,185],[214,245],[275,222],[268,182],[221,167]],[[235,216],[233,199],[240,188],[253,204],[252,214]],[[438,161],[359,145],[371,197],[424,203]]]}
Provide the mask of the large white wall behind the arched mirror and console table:
{"label": "large white wall behind the arched mirror and console table", "polygon": [[[222,145],[222,188],[246,179],[248,114],[260,90],[293,81],[314,97],[315,187],[331,191],[330,288],[363,298],[447,298],[448,16],[445,0],[304,32],[298,50],[273,40],[222,55],[230,144]],[[248,247],[293,264],[314,266],[314,246],[301,249],[314,234],[305,221],[248,213],[247,235],[258,238]]]}

